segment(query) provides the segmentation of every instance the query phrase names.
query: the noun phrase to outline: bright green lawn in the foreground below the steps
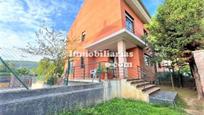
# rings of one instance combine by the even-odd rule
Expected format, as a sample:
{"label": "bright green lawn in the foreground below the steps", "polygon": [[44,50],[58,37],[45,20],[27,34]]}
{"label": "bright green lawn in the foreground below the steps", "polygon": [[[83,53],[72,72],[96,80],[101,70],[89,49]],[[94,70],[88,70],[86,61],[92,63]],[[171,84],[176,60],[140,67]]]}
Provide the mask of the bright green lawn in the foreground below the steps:
{"label": "bright green lawn in the foreground below the steps", "polygon": [[95,107],[84,108],[59,115],[184,115],[180,107],[152,105],[130,99],[113,99]]}

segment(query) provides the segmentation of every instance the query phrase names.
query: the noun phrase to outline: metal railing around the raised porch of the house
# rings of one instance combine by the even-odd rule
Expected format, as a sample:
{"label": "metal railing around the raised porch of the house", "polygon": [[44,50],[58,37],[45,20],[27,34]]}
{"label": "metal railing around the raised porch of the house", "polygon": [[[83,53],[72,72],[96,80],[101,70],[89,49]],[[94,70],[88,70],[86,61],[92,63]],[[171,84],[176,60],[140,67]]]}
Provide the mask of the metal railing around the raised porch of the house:
{"label": "metal railing around the raised porch of the house", "polygon": [[118,67],[111,66],[111,63],[108,63],[109,62],[96,62],[73,66],[69,70],[69,79],[93,79],[95,73],[97,79],[119,79],[121,77],[143,78],[147,81],[154,81],[154,79],[152,79],[155,78],[154,73],[150,72],[149,68],[140,66]]}

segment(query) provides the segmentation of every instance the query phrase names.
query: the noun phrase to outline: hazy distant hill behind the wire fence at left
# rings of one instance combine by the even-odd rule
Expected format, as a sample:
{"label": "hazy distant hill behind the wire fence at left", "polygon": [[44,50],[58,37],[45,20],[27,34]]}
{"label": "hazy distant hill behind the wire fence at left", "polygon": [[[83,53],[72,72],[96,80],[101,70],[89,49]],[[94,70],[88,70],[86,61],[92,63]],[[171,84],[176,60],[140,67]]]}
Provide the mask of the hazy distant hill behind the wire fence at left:
{"label": "hazy distant hill behind the wire fence at left", "polygon": [[34,61],[16,61],[16,60],[6,60],[7,63],[12,64],[15,68],[36,68],[38,66],[38,62]]}

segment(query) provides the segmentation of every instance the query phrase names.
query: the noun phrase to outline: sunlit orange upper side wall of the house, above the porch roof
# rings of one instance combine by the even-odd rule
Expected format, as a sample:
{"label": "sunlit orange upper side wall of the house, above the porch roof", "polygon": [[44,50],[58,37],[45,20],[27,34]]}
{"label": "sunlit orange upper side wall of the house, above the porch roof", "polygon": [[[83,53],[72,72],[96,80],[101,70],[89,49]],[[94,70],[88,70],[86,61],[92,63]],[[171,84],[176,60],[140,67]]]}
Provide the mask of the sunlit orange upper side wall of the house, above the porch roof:
{"label": "sunlit orange upper side wall of the house, above the porch roof", "polygon": [[68,36],[80,37],[86,31],[85,41],[79,46],[84,49],[107,35],[122,29],[120,0],[85,0]]}

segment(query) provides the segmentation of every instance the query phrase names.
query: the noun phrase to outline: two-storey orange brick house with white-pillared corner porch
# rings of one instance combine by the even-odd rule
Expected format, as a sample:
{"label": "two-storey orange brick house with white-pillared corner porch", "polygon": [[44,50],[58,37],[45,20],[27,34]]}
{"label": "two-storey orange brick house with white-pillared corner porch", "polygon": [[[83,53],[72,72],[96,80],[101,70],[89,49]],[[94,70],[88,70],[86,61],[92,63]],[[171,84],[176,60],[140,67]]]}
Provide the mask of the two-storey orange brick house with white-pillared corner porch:
{"label": "two-storey orange brick house with white-pillared corner porch", "polygon": [[89,79],[100,70],[102,79],[153,81],[154,66],[143,39],[150,20],[140,0],[84,0],[68,33],[67,51],[75,52],[70,79]]}

